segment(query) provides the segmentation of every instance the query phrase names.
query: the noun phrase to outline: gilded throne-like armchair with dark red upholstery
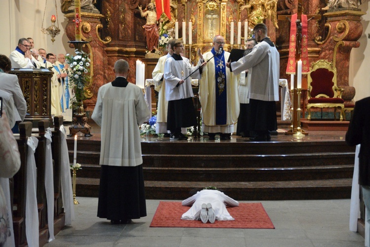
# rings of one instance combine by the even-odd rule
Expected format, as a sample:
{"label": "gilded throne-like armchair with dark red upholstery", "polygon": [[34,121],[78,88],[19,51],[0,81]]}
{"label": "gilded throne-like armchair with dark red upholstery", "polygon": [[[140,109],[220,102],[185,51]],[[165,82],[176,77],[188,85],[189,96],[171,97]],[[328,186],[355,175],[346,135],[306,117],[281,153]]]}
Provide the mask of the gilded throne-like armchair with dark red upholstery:
{"label": "gilded throne-like armchair with dark red upholstery", "polygon": [[326,60],[312,63],[307,83],[307,120],[311,120],[311,107],[318,107],[340,109],[340,121],[343,121],[343,89],[336,85],[336,68],[333,64]]}

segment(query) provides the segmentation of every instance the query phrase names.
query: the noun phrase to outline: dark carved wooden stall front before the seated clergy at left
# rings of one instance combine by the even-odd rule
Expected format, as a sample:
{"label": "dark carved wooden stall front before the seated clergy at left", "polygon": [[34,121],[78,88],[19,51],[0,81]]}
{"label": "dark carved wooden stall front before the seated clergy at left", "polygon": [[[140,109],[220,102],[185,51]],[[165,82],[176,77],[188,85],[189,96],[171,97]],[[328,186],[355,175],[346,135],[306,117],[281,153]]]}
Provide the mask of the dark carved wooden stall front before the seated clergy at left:
{"label": "dark carved wooden stall front before the seated clergy at left", "polygon": [[48,69],[11,69],[9,74],[18,77],[27,103],[24,122],[32,122],[34,128],[37,128],[40,120],[48,120],[52,125],[50,95],[51,77],[54,73]]}

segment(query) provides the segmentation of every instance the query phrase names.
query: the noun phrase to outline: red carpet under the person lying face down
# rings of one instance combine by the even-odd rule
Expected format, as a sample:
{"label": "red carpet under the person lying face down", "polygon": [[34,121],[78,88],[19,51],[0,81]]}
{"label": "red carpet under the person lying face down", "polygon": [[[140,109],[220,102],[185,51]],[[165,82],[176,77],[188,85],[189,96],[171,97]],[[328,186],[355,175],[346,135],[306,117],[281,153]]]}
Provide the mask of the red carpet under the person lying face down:
{"label": "red carpet under the person lying face down", "polygon": [[150,227],[275,228],[261,203],[240,203],[239,206],[227,207],[235,220],[216,220],[214,224],[181,219],[188,209],[181,202],[159,202]]}

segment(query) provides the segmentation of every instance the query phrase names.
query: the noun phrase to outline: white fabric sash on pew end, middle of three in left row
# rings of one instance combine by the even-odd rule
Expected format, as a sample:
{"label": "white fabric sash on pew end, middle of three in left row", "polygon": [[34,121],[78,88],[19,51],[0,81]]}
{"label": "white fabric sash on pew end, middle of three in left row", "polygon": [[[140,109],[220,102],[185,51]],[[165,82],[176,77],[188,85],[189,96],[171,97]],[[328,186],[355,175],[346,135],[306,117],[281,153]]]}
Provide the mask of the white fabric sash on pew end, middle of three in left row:
{"label": "white fabric sash on pew end, middle of three in left row", "polygon": [[45,192],[47,202],[47,225],[49,228],[49,242],[54,240],[54,174],[53,158],[51,154],[51,130],[45,132]]}

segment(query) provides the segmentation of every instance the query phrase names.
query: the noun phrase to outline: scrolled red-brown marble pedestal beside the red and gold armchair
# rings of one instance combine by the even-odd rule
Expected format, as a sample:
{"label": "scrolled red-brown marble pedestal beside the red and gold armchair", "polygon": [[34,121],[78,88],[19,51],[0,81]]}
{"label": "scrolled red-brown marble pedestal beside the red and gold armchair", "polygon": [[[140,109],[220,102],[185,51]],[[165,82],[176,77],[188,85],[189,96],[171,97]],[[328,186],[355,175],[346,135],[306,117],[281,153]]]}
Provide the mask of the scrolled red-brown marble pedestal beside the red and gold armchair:
{"label": "scrolled red-brown marble pedestal beside the red and gold armchair", "polygon": [[338,8],[324,14],[328,18],[329,33],[324,41],[317,41],[322,52],[320,59],[333,61],[336,67],[337,85],[344,89],[342,98],[348,103],[355,96],[355,88],[349,86],[349,57],[352,48],[360,46],[363,31],[360,17],[366,14],[356,8]]}

